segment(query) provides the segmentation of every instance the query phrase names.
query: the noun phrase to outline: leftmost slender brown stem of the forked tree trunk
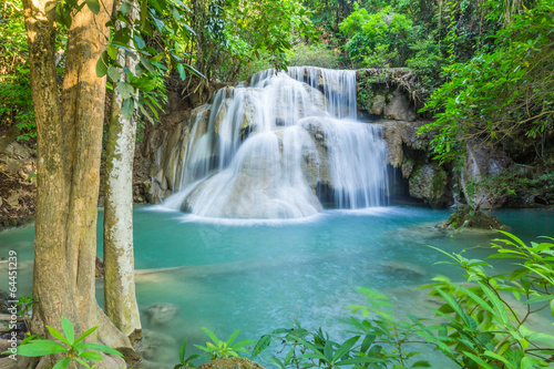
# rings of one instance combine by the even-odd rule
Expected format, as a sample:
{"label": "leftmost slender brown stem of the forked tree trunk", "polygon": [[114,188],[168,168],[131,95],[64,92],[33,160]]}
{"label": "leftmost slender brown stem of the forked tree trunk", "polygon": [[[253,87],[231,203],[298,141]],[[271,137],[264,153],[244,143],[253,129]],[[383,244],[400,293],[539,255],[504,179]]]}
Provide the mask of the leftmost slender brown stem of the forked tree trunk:
{"label": "leftmost slender brown stem of the forked tree trunk", "polygon": [[[37,219],[34,237],[33,330],[59,327],[62,314],[76,317],[65,257],[65,182],[61,103],[55,81],[55,9],[48,0],[24,0],[31,95],[37,122]],[[54,285],[54,286],[52,286]],[[70,316],[71,315],[71,316]]]}

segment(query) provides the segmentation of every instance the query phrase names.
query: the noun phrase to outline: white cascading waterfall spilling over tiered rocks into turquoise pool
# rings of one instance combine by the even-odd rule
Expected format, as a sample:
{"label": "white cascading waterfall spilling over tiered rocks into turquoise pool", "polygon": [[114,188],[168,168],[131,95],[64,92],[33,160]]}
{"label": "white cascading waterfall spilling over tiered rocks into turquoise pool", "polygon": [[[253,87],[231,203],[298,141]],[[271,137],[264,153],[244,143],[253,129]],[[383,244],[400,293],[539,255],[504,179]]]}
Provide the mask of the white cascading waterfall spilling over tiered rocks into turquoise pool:
{"label": "white cascading waterfall spilling over tiered rocks into turquoise pool", "polygon": [[290,68],[224,88],[192,114],[170,153],[174,195],[164,206],[206,217],[294,218],[321,203],[380,206],[386,145],[356,122],[356,72]]}

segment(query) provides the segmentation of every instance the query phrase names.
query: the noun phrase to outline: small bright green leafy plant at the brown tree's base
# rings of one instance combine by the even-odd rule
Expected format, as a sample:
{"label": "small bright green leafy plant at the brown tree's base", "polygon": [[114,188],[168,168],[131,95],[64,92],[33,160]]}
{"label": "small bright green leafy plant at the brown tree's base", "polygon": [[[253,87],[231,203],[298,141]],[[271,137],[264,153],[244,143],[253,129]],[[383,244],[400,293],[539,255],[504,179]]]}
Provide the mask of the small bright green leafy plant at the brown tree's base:
{"label": "small bright green leafy plant at the brown tree's base", "polygon": [[53,369],[64,369],[73,362],[78,362],[85,368],[91,368],[91,361],[103,360],[102,356],[94,351],[123,357],[120,351],[114,350],[113,348],[110,348],[107,346],[84,342],[84,339],[94,330],[96,330],[98,327],[91,328],[75,338],[74,327],[71,321],[62,317],[61,325],[63,334],[52,327],[47,326],[52,337],[54,337],[58,341],[42,339],[37,336],[30,336],[25,338],[18,347],[18,355],[28,357],[41,357],[54,353],[63,353],[65,357],[58,360]]}

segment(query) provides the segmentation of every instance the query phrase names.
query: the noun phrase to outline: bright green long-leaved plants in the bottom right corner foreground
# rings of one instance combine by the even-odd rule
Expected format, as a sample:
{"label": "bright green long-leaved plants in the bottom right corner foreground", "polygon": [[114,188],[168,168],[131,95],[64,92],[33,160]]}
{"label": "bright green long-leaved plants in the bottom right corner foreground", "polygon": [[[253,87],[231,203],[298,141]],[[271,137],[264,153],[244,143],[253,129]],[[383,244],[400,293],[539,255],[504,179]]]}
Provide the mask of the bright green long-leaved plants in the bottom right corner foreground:
{"label": "bright green long-leaved plants in the bottom right corner foreground", "polygon": [[434,310],[444,322],[435,329],[420,326],[420,332],[462,368],[548,367],[554,353],[548,342],[554,336],[533,331],[527,324],[548,307],[554,316],[554,243],[526,245],[501,233],[506,238],[493,240],[496,254],[490,258],[512,258],[516,269],[490,275],[486,262],[441,252],[453,260],[448,264],[465,270],[470,285],[434,278],[437,283],[427,287],[433,287],[434,296],[444,301]]}

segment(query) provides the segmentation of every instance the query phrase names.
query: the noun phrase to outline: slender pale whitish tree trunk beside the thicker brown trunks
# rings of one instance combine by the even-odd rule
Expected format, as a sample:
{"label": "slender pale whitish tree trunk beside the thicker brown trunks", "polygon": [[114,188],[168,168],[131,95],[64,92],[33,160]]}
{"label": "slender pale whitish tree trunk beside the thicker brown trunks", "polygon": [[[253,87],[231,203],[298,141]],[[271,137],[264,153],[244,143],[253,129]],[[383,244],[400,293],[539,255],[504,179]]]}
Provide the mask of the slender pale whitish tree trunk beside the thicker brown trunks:
{"label": "slender pale whitish tree trunk beside the thicker brown trunks", "polygon": [[[131,3],[130,18],[138,19],[138,4]],[[116,11],[121,1],[116,3]],[[116,27],[125,27],[117,21]],[[132,41],[130,41],[131,43]],[[137,57],[119,49],[117,62],[135,72]],[[125,82],[123,69],[120,81]],[[136,114],[129,119],[122,112],[123,98],[114,89],[106,146],[104,204],[104,306],[105,314],[133,341],[142,337],[141,318],[135,296],[133,259],[133,158]]]}

